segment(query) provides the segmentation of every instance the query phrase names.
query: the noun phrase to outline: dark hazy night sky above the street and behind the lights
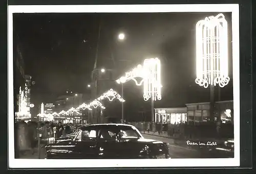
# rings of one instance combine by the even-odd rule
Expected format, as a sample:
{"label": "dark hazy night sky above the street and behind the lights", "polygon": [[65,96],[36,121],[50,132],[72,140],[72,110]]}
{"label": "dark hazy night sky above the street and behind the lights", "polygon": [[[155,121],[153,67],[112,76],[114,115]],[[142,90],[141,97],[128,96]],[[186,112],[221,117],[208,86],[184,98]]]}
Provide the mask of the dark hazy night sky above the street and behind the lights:
{"label": "dark hazy night sky above the street and behind the lights", "polygon": [[[209,89],[195,83],[195,27],[198,20],[217,14],[14,14],[14,44],[18,35],[25,73],[36,82],[31,96],[35,103],[54,101],[66,90],[88,93],[101,23],[98,67],[115,68],[121,76],[145,58],[158,57],[163,97],[157,105],[184,107],[186,103],[209,101]],[[224,15],[230,30],[231,13]],[[122,42],[117,39],[119,32],[126,35]],[[232,100],[231,66],[229,74],[231,81],[221,91],[222,100]],[[136,89],[130,89],[131,93]]]}

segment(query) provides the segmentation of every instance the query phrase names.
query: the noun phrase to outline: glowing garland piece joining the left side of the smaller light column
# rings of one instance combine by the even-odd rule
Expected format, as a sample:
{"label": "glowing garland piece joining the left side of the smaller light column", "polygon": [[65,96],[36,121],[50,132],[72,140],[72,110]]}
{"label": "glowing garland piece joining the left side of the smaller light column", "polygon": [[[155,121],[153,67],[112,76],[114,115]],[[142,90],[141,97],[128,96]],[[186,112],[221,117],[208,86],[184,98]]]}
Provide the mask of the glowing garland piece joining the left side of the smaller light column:
{"label": "glowing garland piece joining the left side of the smaller light column", "polygon": [[[127,81],[133,80],[137,86],[141,86],[144,81],[144,68],[140,64],[137,65],[133,70],[126,72],[125,76],[121,77],[120,79],[116,80],[118,84],[125,83]],[[138,82],[135,78],[142,78],[140,82]]]}

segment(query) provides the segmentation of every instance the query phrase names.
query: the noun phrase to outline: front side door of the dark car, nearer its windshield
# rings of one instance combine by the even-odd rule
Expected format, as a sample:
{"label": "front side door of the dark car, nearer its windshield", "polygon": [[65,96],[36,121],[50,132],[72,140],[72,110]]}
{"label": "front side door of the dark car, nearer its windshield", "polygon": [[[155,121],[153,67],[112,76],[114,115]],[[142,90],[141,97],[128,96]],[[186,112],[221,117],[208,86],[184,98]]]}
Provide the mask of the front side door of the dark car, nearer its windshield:
{"label": "front side door of the dark car, nearer its windshield", "polygon": [[118,159],[120,153],[118,153],[119,141],[117,140],[116,133],[111,129],[100,129],[98,136],[97,149],[99,152],[99,158],[103,159]]}

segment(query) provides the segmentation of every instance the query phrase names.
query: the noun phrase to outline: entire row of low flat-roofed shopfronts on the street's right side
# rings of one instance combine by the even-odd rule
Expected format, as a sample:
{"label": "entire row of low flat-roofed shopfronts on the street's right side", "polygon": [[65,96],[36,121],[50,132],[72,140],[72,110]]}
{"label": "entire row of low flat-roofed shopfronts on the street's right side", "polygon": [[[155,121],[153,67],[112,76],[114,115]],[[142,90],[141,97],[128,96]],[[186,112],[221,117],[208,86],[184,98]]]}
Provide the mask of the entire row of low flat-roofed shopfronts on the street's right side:
{"label": "entire row of low flat-roofed shopfronts on the street's right side", "polygon": [[[184,108],[156,108],[155,122],[169,122],[197,125],[209,121],[210,103],[186,104]],[[214,105],[214,120],[233,125],[233,101],[216,102]]]}

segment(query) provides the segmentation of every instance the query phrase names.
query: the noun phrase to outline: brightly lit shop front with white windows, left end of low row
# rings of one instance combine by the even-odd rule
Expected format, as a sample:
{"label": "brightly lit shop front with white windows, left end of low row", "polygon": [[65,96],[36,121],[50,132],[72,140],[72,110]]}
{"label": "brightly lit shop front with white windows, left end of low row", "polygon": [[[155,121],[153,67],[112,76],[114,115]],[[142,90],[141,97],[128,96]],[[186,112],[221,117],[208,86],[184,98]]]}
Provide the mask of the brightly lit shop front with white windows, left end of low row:
{"label": "brightly lit shop front with white windows, left end of low row", "polygon": [[184,123],[187,121],[187,108],[156,108],[155,122]]}

